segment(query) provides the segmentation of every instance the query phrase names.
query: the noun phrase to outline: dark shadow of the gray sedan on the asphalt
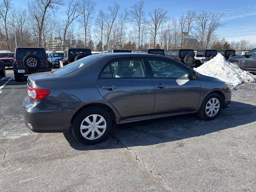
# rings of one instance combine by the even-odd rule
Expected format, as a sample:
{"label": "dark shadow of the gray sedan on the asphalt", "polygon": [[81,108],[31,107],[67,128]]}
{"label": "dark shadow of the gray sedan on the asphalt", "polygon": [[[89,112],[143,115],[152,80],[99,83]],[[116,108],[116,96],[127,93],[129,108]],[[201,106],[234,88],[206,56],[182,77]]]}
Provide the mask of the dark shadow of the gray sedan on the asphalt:
{"label": "dark shadow of the gray sedan on the asphalt", "polygon": [[[76,150],[102,150],[164,144],[221,132],[255,121],[256,106],[233,101],[230,108],[222,110],[220,116],[212,121],[201,120],[196,115],[182,115],[124,124],[114,128],[107,140],[96,145],[81,144],[72,133],[64,133],[64,137]],[[112,139],[116,142],[110,142]]]}

